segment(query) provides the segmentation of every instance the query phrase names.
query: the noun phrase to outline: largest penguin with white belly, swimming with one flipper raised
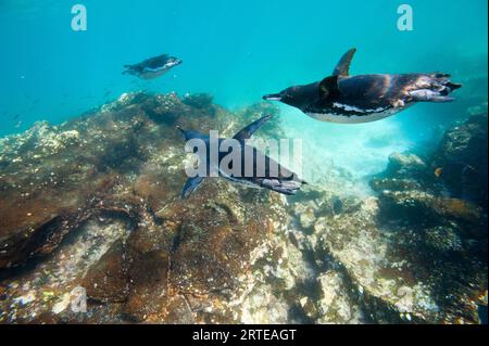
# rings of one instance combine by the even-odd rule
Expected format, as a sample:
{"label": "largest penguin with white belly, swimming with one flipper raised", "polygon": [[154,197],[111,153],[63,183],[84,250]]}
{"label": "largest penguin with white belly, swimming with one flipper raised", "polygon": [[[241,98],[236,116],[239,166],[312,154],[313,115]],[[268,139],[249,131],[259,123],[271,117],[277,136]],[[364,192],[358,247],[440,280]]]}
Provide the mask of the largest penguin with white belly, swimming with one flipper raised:
{"label": "largest penguin with white belly, swimming with one flipper raised", "polygon": [[349,76],[355,49],[338,62],[333,75],[322,81],[287,88],[264,95],[280,101],[309,116],[330,123],[354,124],[379,120],[416,102],[449,102],[461,88],[447,74],[402,74]]}

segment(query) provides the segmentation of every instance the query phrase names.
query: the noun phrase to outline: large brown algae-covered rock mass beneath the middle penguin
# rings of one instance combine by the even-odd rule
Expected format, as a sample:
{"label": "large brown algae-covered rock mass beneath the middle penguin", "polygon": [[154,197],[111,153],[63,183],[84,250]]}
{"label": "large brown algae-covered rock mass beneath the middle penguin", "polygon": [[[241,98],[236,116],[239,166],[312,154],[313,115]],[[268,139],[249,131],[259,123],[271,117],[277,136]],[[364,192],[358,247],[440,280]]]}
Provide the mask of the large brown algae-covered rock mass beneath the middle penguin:
{"label": "large brown algae-covered rock mass beneath the middle penguin", "polygon": [[[233,302],[248,292],[251,268],[285,212],[278,195],[212,179],[179,200],[186,153],[173,125],[236,131],[234,120],[249,121],[212,108],[173,93],[126,94],[88,116],[2,140],[0,278],[9,298],[0,322],[239,321]],[[97,257],[77,270],[54,261],[67,246],[86,249],[77,234],[91,220],[113,218],[128,222],[128,236],[97,238]],[[50,273],[64,266],[73,272],[57,285],[86,289],[87,316],[67,309],[68,293],[49,286],[45,302],[27,285],[32,277],[50,285]],[[48,273],[38,272],[45,267]],[[14,299],[21,305],[7,309]]]}

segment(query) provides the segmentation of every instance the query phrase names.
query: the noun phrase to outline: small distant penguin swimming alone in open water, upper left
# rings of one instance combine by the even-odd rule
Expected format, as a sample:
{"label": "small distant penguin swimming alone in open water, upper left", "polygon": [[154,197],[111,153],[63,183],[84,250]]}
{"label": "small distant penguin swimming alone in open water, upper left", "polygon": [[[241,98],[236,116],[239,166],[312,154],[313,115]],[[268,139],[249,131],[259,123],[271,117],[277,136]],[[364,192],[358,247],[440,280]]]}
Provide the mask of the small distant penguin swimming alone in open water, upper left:
{"label": "small distant penguin swimming alone in open water, upper left", "polygon": [[123,74],[138,76],[142,79],[152,79],[167,73],[173,67],[181,64],[181,60],[167,54],[147,59],[139,64],[124,65]]}

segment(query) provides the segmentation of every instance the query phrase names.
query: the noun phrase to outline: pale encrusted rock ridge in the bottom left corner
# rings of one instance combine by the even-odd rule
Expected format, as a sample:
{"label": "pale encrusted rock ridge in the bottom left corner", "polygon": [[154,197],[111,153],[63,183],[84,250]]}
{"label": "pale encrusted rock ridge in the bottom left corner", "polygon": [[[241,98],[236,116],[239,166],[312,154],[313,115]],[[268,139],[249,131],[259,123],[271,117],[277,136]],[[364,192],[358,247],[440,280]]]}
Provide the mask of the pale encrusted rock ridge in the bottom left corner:
{"label": "pale encrusted rock ridge in the bottom left corner", "polygon": [[129,220],[117,215],[92,217],[74,229],[57,252],[7,272],[2,282],[8,298],[0,300],[0,323],[63,322],[78,318],[79,313],[71,313],[72,292],[83,287],[84,274],[112,244],[124,241],[130,228]]}

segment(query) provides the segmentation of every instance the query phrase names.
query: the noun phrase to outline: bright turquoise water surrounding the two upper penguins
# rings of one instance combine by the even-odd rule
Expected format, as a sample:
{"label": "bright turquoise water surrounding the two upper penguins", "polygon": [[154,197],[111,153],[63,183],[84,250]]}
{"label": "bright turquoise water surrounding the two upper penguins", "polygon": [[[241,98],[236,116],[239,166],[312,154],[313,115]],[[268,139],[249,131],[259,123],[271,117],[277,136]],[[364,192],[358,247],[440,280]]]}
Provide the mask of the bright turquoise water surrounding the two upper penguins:
{"label": "bright turquoise water surrounding the two upper penguins", "polygon": [[[413,31],[398,30],[400,3],[388,0],[0,0],[0,136],[141,89],[209,92],[236,110],[322,79],[352,47],[352,74],[444,72],[464,84],[455,103],[419,104],[365,125],[319,123],[281,106],[288,136],[303,137],[321,162],[359,176],[379,171],[392,151],[429,146],[469,106],[487,102],[487,1],[404,2]],[[87,8],[87,31],[71,28],[76,3]],[[161,53],[184,64],[150,81],[121,74],[124,64]]]}

